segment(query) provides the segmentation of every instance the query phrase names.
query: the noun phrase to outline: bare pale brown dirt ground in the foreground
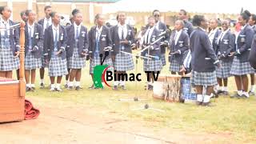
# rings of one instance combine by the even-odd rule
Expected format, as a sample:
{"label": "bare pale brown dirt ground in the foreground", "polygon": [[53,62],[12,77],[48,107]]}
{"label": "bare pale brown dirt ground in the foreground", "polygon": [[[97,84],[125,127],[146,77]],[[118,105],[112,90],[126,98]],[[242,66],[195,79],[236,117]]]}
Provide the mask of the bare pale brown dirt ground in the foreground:
{"label": "bare pale brown dirt ground in the foreground", "polygon": [[0,124],[0,143],[236,143],[231,134],[206,134],[168,127],[155,130],[109,110],[72,102],[28,98],[41,114],[37,119]]}

